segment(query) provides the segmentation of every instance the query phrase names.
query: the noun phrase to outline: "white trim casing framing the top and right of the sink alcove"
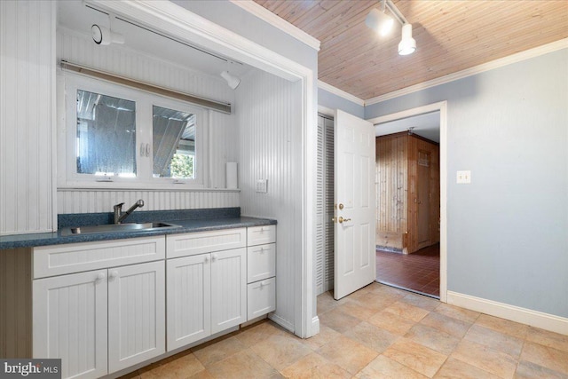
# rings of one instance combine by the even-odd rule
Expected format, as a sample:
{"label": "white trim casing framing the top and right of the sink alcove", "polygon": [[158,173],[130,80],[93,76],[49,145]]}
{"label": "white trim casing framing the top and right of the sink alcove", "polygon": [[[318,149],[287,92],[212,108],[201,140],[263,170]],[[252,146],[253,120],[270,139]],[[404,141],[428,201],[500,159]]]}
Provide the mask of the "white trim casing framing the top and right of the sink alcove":
{"label": "white trim casing framing the top and right of the sink alcove", "polygon": [[[169,1],[107,1],[86,0],[95,8],[104,9],[122,15],[129,20],[139,21],[146,27],[158,30],[180,41],[208,46],[210,51],[226,57],[237,59],[250,66],[280,76],[291,82],[302,82],[302,224],[300,255],[295,255],[293,266],[294,278],[299,283],[294,288],[294,333],[307,338],[319,333],[319,319],[315,312],[315,280],[313,260],[315,257],[316,230],[316,181],[318,143],[317,130],[313,125],[317,122],[317,77],[314,70],[305,67],[292,59],[272,51],[258,43],[223,28],[185,8]],[[294,283],[290,283],[293,285]],[[278,322],[278,319],[276,319]],[[285,326],[286,328],[287,326]],[[288,327],[289,328],[289,327]]]}

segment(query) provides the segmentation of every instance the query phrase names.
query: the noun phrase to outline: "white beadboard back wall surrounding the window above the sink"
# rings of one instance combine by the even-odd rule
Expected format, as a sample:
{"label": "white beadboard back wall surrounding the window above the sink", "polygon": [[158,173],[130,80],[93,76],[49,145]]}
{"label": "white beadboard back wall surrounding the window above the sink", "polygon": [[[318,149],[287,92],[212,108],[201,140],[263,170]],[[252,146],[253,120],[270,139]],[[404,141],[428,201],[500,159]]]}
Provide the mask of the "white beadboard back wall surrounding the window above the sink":
{"label": "white beadboard back wall surrounding the window above the sink", "polygon": [[[67,29],[57,32],[57,59],[66,59],[88,67],[95,67],[117,75],[146,83],[154,83],[177,91],[234,104],[234,91],[220,76],[204,75],[188,67],[181,67],[164,59],[133,51],[125,46],[99,46],[91,36]],[[58,84],[65,83],[65,71],[58,67]],[[61,104],[63,91],[57,90]],[[59,106],[58,133],[64,132],[65,114]],[[60,140],[61,137],[58,137]],[[207,187],[225,188],[225,162],[238,162],[239,128],[234,114],[209,111],[209,180]],[[61,165],[59,164],[59,167]],[[105,190],[73,189],[64,187],[65,175],[58,174],[57,212],[106,212],[118,202],[146,202],[144,210],[201,209],[239,207],[238,191],[209,190]]]}

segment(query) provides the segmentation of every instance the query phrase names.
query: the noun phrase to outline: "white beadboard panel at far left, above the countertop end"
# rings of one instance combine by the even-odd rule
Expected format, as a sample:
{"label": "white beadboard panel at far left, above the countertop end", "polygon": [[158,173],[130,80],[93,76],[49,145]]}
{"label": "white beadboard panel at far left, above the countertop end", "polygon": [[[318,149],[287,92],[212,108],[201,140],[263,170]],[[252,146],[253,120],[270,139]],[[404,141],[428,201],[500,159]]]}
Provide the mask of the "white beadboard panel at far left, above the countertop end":
{"label": "white beadboard panel at far left, above the countertop end", "polygon": [[0,235],[51,232],[55,2],[0,2]]}

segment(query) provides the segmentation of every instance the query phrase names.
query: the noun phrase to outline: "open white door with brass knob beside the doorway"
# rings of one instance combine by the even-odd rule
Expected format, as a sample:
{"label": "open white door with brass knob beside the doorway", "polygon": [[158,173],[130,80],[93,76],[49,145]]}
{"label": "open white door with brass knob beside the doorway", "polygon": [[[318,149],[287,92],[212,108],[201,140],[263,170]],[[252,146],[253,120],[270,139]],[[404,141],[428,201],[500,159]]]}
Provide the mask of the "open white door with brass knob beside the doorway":
{"label": "open white door with brass knob beside the doorway", "polygon": [[337,110],[335,299],[372,283],[375,272],[375,129]]}

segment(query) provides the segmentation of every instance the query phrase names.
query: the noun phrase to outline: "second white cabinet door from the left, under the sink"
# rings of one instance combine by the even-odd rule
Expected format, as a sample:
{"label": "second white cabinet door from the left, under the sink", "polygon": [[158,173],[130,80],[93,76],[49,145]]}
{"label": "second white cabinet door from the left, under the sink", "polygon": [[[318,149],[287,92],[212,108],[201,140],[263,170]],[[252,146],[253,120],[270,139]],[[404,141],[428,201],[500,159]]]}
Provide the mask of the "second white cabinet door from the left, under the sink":
{"label": "second white cabinet door from the left, under the sink", "polygon": [[164,262],[108,269],[108,371],[165,352]]}

